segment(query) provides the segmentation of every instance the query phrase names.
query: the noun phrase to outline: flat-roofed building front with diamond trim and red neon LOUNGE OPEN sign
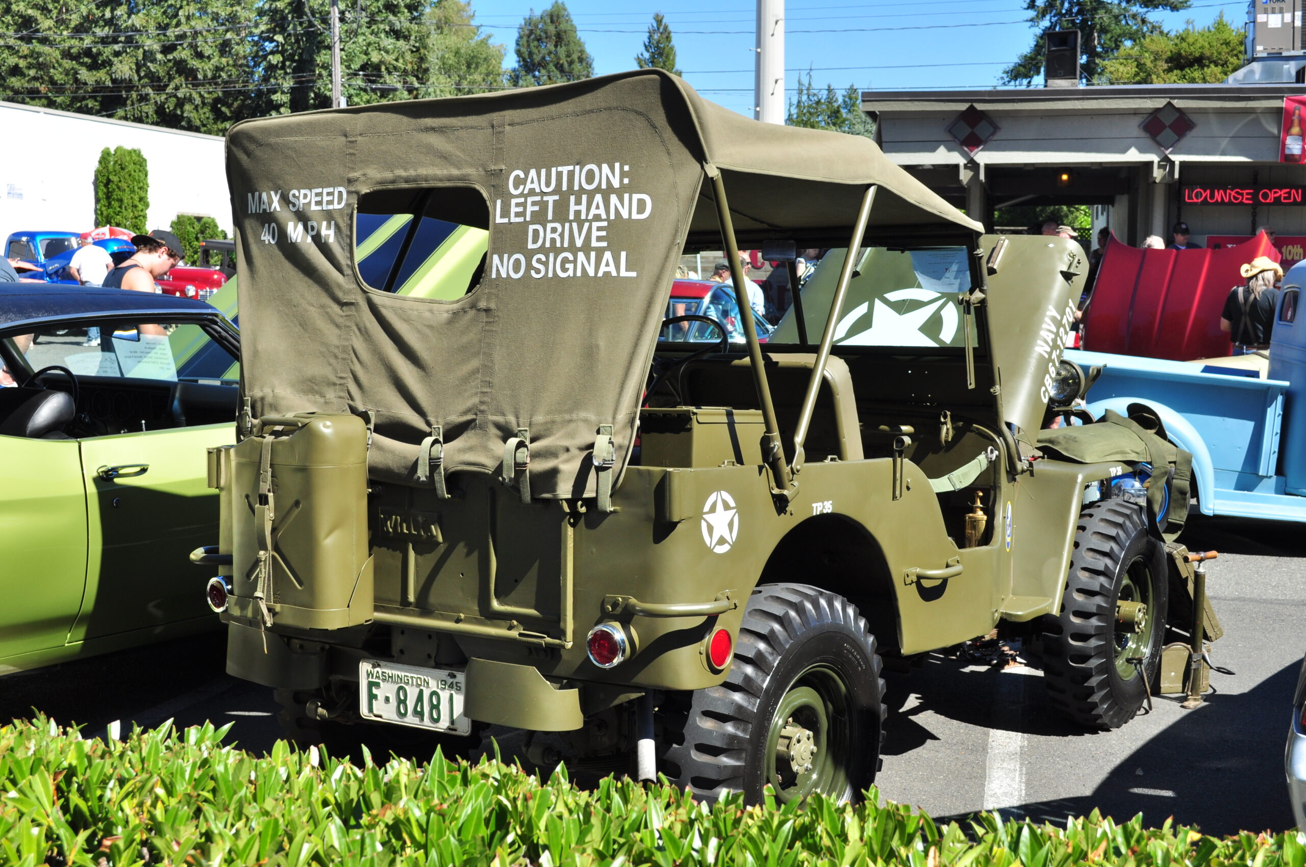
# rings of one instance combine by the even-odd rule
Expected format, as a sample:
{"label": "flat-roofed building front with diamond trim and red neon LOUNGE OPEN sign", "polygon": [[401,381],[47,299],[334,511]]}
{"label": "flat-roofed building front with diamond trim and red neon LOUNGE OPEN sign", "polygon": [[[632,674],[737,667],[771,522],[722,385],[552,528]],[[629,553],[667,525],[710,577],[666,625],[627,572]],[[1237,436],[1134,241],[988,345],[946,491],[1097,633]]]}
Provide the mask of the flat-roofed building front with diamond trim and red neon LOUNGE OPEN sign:
{"label": "flat-roofed building front with diamond trim and red neon LOUNGE OPEN sign", "polygon": [[1281,242],[1306,236],[1306,167],[1280,162],[1285,98],[1302,94],[1302,84],[867,90],[862,110],[893,162],[990,229],[998,208],[1094,205],[1094,226],[1130,244],[1169,243],[1178,221],[1200,243],[1264,225]]}

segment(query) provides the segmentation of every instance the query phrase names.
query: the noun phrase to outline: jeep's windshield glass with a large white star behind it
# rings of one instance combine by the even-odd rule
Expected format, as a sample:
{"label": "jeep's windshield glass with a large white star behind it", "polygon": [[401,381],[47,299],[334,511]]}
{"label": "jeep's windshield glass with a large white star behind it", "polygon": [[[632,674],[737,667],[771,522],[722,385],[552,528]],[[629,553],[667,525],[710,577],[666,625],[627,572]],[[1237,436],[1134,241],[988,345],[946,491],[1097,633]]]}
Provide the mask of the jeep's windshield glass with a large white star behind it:
{"label": "jeep's windshield glass with a large white star behind it", "polygon": [[[848,251],[831,249],[802,285],[807,339],[820,341]],[[835,328],[836,346],[935,349],[964,346],[959,292],[970,289],[965,247],[891,249],[863,247]],[[772,343],[798,343],[790,308]]]}

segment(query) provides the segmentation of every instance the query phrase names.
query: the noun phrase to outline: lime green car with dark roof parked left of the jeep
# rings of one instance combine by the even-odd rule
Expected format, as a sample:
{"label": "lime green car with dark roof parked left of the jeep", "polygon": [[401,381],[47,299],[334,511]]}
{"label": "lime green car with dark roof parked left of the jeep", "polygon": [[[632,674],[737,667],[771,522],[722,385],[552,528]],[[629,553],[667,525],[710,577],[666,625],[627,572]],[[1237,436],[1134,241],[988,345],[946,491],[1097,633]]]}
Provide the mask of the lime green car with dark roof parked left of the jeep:
{"label": "lime green car with dark roof parked left of the jeep", "polygon": [[187,554],[238,341],[202,302],[0,283],[0,674],[219,625]]}

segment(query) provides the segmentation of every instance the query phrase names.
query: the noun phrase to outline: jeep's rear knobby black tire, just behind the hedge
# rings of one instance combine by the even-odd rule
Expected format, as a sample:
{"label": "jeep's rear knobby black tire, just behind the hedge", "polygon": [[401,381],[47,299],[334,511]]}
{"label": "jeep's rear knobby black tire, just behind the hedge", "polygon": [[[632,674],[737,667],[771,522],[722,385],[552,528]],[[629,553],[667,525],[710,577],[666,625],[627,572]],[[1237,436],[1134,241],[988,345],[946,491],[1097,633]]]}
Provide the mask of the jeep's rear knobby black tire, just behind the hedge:
{"label": "jeep's rear knobby black tire, just behind the hedge", "polygon": [[763,585],[725,682],[663,713],[660,770],[708,799],[734,790],[757,803],[769,782],[782,802],[814,791],[855,800],[879,769],[883,696],[875,638],[848,599]]}

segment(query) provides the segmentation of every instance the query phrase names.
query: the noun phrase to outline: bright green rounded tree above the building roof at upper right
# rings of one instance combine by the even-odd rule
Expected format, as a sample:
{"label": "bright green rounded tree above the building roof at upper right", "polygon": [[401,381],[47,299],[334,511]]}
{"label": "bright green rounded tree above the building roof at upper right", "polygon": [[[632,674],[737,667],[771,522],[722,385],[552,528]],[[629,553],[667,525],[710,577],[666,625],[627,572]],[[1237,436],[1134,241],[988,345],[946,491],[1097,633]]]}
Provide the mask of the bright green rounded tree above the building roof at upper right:
{"label": "bright green rounded tree above the building roof at upper right", "polygon": [[1208,27],[1191,21],[1183,30],[1143,37],[1102,60],[1098,84],[1220,84],[1242,68],[1243,34],[1220,13]]}

